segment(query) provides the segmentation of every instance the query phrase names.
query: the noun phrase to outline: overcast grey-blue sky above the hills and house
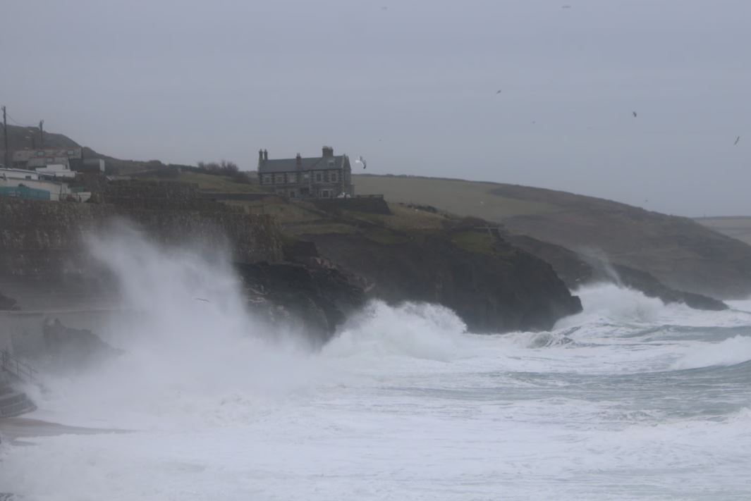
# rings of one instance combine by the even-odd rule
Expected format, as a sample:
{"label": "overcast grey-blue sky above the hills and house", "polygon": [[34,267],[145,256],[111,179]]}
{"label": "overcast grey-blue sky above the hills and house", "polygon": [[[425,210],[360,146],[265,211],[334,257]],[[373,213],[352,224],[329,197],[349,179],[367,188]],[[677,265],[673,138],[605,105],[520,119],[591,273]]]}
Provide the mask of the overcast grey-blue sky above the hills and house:
{"label": "overcast grey-blue sky above the hills and house", "polygon": [[749,0],[0,0],[0,20],[10,123],[115,157],[255,169],[326,144],[372,173],[751,214]]}

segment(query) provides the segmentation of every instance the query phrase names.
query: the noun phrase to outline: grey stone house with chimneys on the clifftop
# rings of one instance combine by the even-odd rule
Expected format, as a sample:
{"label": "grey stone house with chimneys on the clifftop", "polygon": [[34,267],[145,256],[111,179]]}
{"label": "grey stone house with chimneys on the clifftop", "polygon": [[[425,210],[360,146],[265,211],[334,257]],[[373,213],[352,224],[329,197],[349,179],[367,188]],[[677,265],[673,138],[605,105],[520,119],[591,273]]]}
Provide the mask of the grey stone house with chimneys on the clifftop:
{"label": "grey stone house with chimneys on the clifftop", "polygon": [[262,187],[289,198],[336,198],[354,196],[349,157],[334,156],[324,146],[320,157],[269,160],[267,150],[258,151],[258,181]]}

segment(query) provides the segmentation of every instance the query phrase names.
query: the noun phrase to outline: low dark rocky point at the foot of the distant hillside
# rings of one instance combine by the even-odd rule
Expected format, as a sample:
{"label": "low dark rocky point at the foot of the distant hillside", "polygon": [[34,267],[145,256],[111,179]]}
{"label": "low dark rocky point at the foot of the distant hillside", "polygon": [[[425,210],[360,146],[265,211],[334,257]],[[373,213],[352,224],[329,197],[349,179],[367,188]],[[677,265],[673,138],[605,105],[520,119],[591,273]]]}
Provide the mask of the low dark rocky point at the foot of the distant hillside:
{"label": "low dark rocky point at the foot of the distant hillside", "polygon": [[699,310],[725,310],[722,301],[686,293],[665,286],[647,272],[619,264],[611,264],[596,257],[584,257],[560,245],[532,239],[529,236],[503,233],[503,238],[519,248],[547,261],[572,290],[596,282],[612,282],[644,293],[650,298],[659,298],[665,303],[682,303]]}

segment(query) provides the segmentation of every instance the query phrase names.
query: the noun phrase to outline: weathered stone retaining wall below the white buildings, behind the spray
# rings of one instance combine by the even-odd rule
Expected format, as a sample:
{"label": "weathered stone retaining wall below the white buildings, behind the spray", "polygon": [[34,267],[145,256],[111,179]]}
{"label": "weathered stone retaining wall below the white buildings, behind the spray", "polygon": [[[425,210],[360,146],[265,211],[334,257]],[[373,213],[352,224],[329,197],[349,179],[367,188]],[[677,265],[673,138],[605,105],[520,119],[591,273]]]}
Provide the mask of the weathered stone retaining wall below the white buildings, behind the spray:
{"label": "weathered stone retaining wall below the white buildings, behind the spray", "polygon": [[[83,237],[107,229],[118,219],[131,220],[161,243],[229,245],[240,263],[282,260],[282,239],[269,215],[248,215],[190,197],[165,201],[155,196],[144,203],[128,200],[114,205],[0,198],[0,275],[80,272],[87,262]],[[155,208],[159,205],[163,208]]]}

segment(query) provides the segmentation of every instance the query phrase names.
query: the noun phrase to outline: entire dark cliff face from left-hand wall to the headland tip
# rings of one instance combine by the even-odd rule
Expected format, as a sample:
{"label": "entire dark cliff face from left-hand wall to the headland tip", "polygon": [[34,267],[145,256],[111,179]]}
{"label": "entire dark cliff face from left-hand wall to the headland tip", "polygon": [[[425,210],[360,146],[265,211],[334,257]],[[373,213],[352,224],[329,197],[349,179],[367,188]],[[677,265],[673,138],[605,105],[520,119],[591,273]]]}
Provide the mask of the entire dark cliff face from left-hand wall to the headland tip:
{"label": "entire dark cliff face from left-hand wall to the headland tip", "polygon": [[[318,231],[301,241],[285,235],[270,214],[246,214],[195,186],[109,184],[98,200],[0,199],[0,278],[42,278],[39,284],[47,290],[74,278],[78,294],[92,283],[81,277],[98,278],[84,237],[125,217],[158,242],[228,246],[249,308],[270,322],[297,324],[316,341],[329,338],[367,298],[439,303],[456,311],[473,332],[550,329],[559,318],[581,311],[578,298],[550,265],[503,239],[486,242],[484,233],[469,227],[394,232],[357,219],[363,214],[359,206],[350,211],[333,204],[306,214],[345,233]],[[368,217],[412,224],[404,214],[391,214],[382,199],[373,200],[387,210],[370,211]],[[284,208],[302,210],[289,203]],[[368,231],[360,231],[368,224]],[[23,296],[5,290],[24,307]]]}

